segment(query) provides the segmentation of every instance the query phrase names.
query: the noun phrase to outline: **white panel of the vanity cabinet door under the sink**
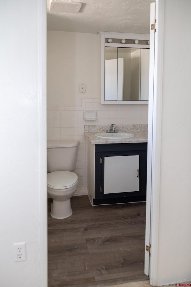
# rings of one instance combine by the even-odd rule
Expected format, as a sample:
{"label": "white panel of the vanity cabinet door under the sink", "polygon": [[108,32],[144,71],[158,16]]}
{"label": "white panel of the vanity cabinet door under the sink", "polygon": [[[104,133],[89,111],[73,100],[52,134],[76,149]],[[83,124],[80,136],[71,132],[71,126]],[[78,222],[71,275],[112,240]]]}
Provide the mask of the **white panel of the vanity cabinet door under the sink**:
{"label": "white panel of the vanity cabinet door under the sink", "polygon": [[139,191],[139,155],[104,157],[104,194]]}

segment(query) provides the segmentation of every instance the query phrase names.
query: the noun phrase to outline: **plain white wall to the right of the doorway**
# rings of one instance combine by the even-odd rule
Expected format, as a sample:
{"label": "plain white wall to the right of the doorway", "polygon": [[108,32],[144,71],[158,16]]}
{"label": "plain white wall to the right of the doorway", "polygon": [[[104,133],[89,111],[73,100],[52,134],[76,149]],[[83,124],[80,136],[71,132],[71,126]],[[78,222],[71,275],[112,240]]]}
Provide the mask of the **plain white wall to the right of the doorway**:
{"label": "plain white wall to the right of the doorway", "polygon": [[190,0],[164,1],[158,285],[191,280],[190,11]]}

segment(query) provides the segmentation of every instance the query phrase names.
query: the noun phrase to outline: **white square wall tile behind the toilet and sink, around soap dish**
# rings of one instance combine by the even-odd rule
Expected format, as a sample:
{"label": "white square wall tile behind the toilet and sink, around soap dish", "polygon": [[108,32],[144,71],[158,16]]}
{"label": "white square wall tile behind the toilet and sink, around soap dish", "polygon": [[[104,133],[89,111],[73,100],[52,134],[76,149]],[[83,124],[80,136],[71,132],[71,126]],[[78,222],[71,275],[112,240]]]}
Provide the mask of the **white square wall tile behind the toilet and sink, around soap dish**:
{"label": "white square wall tile behind the toilet and sink, around soap dish", "polygon": [[[97,120],[84,120],[84,111],[96,111]],[[78,188],[74,195],[87,194],[87,139],[85,125],[147,125],[148,105],[101,105],[99,99],[82,99],[80,107],[47,107],[47,140],[80,141],[76,169]]]}

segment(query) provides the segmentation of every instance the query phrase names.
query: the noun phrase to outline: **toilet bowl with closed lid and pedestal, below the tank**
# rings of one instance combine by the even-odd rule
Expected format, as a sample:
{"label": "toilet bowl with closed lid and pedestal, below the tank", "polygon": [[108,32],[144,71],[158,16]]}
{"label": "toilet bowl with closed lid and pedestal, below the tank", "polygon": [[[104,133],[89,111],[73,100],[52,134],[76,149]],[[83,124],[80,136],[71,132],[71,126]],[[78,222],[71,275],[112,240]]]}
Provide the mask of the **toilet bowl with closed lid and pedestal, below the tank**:
{"label": "toilet bowl with closed lid and pedestal, below the tank", "polygon": [[78,186],[78,176],[71,171],[55,171],[47,174],[47,192],[53,199],[51,216],[64,219],[72,215],[70,198]]}

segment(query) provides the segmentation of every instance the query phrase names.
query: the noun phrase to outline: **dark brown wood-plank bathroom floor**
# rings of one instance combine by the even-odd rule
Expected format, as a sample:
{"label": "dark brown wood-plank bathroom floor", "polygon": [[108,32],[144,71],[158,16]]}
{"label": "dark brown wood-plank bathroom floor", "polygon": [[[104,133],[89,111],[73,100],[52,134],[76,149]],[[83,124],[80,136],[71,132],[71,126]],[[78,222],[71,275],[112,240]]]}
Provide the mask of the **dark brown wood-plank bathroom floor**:
{"label": "dark brown wood-plank bathroom floor", "polygon": [[91,206],[71,199],[72,216],[54,219],[48,203],[48,286],[101,287],[147,280],[146,203]]}

